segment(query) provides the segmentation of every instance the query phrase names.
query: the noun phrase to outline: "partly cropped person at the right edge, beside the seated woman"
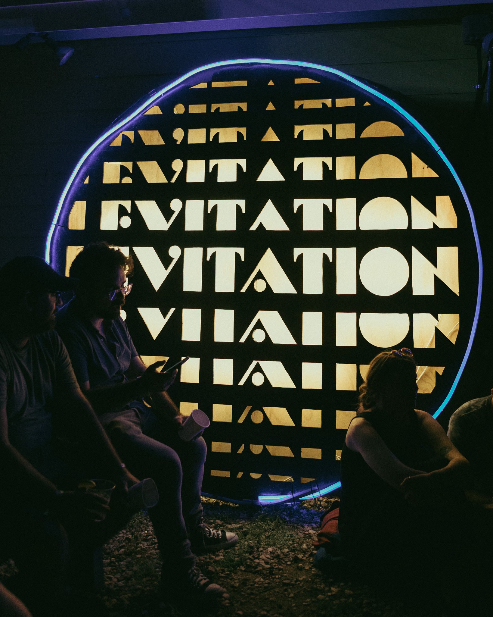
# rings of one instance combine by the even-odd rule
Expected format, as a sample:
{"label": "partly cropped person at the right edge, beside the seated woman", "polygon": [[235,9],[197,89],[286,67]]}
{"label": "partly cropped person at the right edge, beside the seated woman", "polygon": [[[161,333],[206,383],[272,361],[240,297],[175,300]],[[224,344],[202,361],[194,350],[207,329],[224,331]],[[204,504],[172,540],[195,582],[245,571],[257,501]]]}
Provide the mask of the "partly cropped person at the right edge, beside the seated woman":
{"label": "partly cropped person at the right edge, beside the seated woman", "polygon": [[491,502],[493,495],[493,389],[452,413],[449,437],[471,463],[473,488]]}

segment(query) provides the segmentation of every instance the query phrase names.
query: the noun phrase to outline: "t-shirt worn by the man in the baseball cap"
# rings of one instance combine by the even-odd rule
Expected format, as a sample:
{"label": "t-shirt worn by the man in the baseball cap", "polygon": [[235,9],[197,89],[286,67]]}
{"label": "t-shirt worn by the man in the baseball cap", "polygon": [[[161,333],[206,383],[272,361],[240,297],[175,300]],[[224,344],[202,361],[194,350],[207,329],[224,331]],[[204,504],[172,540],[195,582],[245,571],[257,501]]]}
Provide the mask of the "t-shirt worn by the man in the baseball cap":
{"label": "t-shirt worn by the man in the baseball cap", "polygon": [[55,395],[78,383],[67,349],[55,331],[32,336],[22,349],[0,333],[0,405],[9,441],[20,453],[43,448],[52,435]]}

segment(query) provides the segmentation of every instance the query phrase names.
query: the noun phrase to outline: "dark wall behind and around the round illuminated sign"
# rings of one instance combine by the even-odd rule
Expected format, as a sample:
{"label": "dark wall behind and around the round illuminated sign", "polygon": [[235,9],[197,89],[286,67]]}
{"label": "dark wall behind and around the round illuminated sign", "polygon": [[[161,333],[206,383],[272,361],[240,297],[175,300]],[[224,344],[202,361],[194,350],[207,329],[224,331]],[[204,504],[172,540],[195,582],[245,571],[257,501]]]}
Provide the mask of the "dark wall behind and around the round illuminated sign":
{"label": "dark wall behind and around the round illuminated sign", "polygon": [[216,60],[266,57],[340,68],[391,89],[456,168],[473,204],[484,256],[478,333],[450,413],[493,386],[492,159],[486,110],[474,112],[475,48],[462,23],[389,22],[68,42],[59,67],[45,44],[0,47],[0,263],[44,255],[55,205],[86,148],[152,89]]}

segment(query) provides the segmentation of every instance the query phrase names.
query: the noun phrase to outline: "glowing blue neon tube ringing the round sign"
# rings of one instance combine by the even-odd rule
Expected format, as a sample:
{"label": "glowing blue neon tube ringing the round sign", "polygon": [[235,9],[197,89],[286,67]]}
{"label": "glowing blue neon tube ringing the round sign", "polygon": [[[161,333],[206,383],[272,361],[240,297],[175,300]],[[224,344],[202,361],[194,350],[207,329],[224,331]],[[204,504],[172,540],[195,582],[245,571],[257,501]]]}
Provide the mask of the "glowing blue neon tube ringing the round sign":
{"label": "glowing blue neon tube ringing the round sign", "polygon": [[[372,94],[373,96],[377,97],[378,99],[381,99],[381,101],[385,101],[389,106],[393,107],[393,109],[395,109],[399,114],[401,114],[404,118],[406,118],[406,120],[408,120],[413,126],[415,126],[415,128],[423,135],[423,137],[426,139],[426,141],[428,141],[428,143],[431,144],[431,146],[437,152],[439,157],[441,157],[443,162],[449,168],[450,173],[452,173],[452,176],[454,176],[454,179],[457,182],[457,185],[458,185],[458,187],[460,189],[460,192],[462,193],[462,196],[464,198],[464,201],[466,202],[467,209],[468,209],[468,212],[469,212],[469,215],[470,215],[470,218],[471,218],[471,225],[472,225],[472,228],[473,228],[473,234],[474,234],[474,238],[475,238],[475,242],[476,242],[476,251],[478,253],[478,270],[479,270],[478,271],[478,299],[476,300],[475,316],[474,316],[474,319],[473,319],[473,325],[472,325],[472,328],[471,328],[471,334],[470,334],[470,337],[469,337],[468,346],[467,346],[464,358],[462,360],[462,363],[461,363],[461,365],[459,367],[459,370],[457,372],[457,376],[455,377],[454,383],[452,383],[452,387],[450,387],[450,391],[446,395],[444,401],[442,402],[440,407],[436,410],[436,412],[433,414],[434,418],[438,417],[440,415],[440,413],[442,412],[442,410],[444,409],[444,407],[449,402],[450,398],[452,397],[452,394],[454,394],[454,391],[455,391],[455,388],[457,387],[458,381],[459,381],[460,377],[462,376],[464,367],[466,365],[466,362],[468,360],[469,354],[471,352],[471,347],[472,347],[473,340],[474,340],[474,337],[475,337],[475,334],[476,334],[476,328],[478,326],[479,307],[481,305],[481,292],[482,292],[482,289],[483,289],[483,260],[482,260],[482,257],[481,257],[481,247],[479,246],[478,231],[476,230],[476,222],[475,222],[475,217],[474,217],[474,214],[473,214],[473,209],[471,207],[471,204],[470,204],[469,198],[467,196],[467,193],[465,192],[465,188],[463,187],[462,182],[458,178],[457,172],[455,172],[454,167],[452,167],[452,164],[450,164],[450,161],[447,159],[446,155],[442,152],[441,148],[438,146],[438,144],[433,139],[433,137],[431,137],[430,133],[428,133],[428,131],[426,131],[425,128],[423,128],[423,126],[420,125],[420,123],[417,120],[415,120],[415,118],[412,117],[412,115],[410,115],[407,111],[405,111],[405,109],[402,109],[402,107],[396,101],[393,101],[388,96],[385,96],[385,94],[381,94],[380,92],[375,90],[375,88],[372,88],[371,86],[368,86],[368,85],[362,83],[361,81],[357,80],[356,78],[351,77],[351,75],[346,75],[346,73],[343,73],[343,72],[341,72],[340,70],[338,70],[336,68],[324,67],[323,65],[313,64],[312,62],[299,62],[297,60],[268,60],[268,59],[263,59],[263,58],[243,58],[243,59],[239,59],[239,60],[222,60],[221,62],[212,62],[211,64],[204,65],[203,67],[194,68],[194,70],[189,71],[188,73],[185,73],[185,75],[182,75],[182,77],[179,77],[177,80],[171,82],[170,84],[168,84],[164,88],[161,88],[160,91],[158,91],[155,94],[153,94],[152,96],[150,96],[149,99],[147,99],[147,101],[142,103],[141,106],[139,106],[136,110],[134,110],[126,118],[124,118],[123,120],[120,120],[120,122],[118,122],[115,126],[113,126],[113,128],[110,128],[108,131],[106,131],[106,133],[104,133],[104,135],[100,136],[94,142],[94,144],[92,144],[92,146],[88,149],[88,151],[86,151],[83,154],[83,156],[79,160],[79,162],[76,165],[75,169],[71,173],[71,176],[68,179],[68,182],[65,185],[65,188],[63,189],[62,195],[60,196],[60,199],[59,199],[59,202],[58,202],[58,205],[57,205],[57,209],[55,211],[55,215],[53,217],[53,221],[51,223],[51,227],[50,227],[47,239],[46,239],[46,251],[45,251],[45,260],[46,260],[46,262],[50,263],[51,240],[52,240],[52,236],[54,234],[55,228],[56,228],[56,226],[58,224],[58,219],[59,219],[59,216],[60,216],[60,212],[62,211],[62,205],[63,205],[63,202],[65,201],[65,197],[67,196],[67,193],[70,190],[71,184],[73,183],[73,181],[75,179],[75,176],[77,175],[77,173],[79,172],[80,168],[84,164],[84,161],[86,161],[86,159],[88,159],[89,155],[92,152],[94,152],[94,150],[97,148],[97,146],[99,146],[99,144],[101,144],[109,136],[113,135],[118,130],[120,130],[120,128],[123,125],[125,125],[130,120],[135,118],[137,115],[141,114],[141,112],[143,112],[146,107],[149,107],[149,105],[153,101],[155,101],[160,96],[162,96],[163,94],[165,94],[169,90],[173,89],[175,86],[179,85],[183,81],[187,80],[189,77],[192,77],[192,75],[197,75],[197,73],[200,73],[200,72],[205,71],[205,70],[209,70],[211,68],[224,67],[224,66],[228,66],[228,65],[232,65],[232,64],[271,64],[271,65],[276,65],[277,64],[277,65],[284,65],[284,66],[298,66],[298,67],[303,67],[303,68],[314,68],[315,70],[324,71],[326,73],[332,73],[333,75],[338,75],[338,77],[341,77],[344,80],[353,83],[358,88],[360,88],[360,89],[362,89],[362,90]],[[325,487],[324,489],[322,489],[322,491],[320,491],[319,494],[323,495],[323,494],[327,494],[328,492],[335,491],[336,488],[338,488],[339,486],[340,486],[340,482],[337,482],[336,484],[332,484],[331,486]],[[280,495],[279,499],[285,499],[285,495]],[[313,499],[313,497],[302,497],[301,499]],[[274,497],[272,495],[260,495],[258,500],[259,501],[274,500]]]}

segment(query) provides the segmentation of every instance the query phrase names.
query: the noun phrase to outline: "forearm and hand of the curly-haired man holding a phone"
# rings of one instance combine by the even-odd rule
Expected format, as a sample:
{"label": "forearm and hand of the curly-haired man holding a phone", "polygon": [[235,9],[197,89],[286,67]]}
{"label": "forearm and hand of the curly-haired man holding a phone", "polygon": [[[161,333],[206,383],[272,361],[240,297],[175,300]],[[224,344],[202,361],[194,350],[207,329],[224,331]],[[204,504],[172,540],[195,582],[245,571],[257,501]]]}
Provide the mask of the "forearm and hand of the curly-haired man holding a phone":
{"label": "forearm and hand of the curly-haired man holding a phone", "polygon": [[134,378],[129,379],[129,381],[94,388],[91,388],[89,381],[86,381],[80,386],[97,413],[121,409],[123,405],[132,400],[142,399],[145,395],[152,394],[153,399],[156,395],[159,395],[160,399],[168,405],[170,412],[176,415],[174,413],[176,405],[166,394],[166,390],[174,382],[176,371],[160,373],[158,368],[163,364],[164,362],[155,362],[146,367],[141,358],[135,356],[131,360],[129,369],[129,374]]}

